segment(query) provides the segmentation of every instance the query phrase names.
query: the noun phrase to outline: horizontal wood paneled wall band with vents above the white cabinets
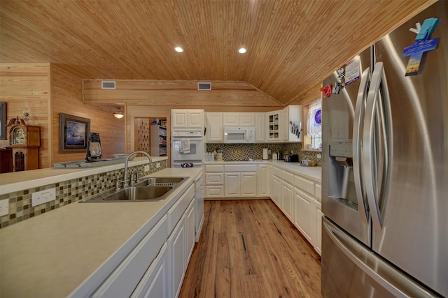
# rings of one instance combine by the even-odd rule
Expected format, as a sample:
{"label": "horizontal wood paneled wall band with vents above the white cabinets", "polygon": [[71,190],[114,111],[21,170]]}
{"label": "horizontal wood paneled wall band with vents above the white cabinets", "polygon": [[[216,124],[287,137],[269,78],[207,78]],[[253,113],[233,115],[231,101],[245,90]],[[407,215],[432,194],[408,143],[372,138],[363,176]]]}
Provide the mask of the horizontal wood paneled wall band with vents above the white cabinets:
{"label": "horizontal wood paneled wall band with vents above the white cabinets", "polygon": [[85,103],[127,103],[171,107],[283,107],[247,82],[211,81],[211,90],[197,90],[197,81],[116,80],[115,90],[101,89],[101,80],[84,81]]}

